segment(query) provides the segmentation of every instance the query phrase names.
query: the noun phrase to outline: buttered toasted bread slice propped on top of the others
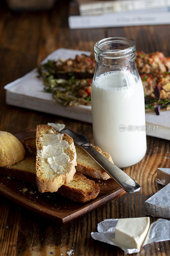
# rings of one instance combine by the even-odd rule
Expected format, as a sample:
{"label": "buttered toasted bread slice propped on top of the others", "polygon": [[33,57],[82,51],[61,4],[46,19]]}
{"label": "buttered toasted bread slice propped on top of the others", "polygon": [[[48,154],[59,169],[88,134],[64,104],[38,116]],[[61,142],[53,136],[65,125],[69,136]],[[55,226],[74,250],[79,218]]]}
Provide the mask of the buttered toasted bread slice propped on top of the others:
{"label": "buttered toasted bread slice propped on top of the others", "polygon": [[73,139],[56,132],[52,126],[37,125],[36,181],[43,192],[56,192],[69,183],[76,172],[76,149]]}

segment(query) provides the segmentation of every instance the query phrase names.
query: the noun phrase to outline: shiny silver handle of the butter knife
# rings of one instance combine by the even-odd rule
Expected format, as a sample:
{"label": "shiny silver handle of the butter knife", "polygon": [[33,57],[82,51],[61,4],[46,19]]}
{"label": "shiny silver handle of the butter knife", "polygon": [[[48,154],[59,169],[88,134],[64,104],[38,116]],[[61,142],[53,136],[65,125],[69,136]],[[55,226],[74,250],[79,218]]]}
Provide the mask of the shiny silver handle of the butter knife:
{"label": "shiny silver handle of the butter knife", "polygon": [[101,155],[89,143],[79,146],[96,161],[108,175],[114,179],[128,193],[135,193],[140,190],[140,185],[131,178],[127,173],[119,169],[115,164],[110,162],[105,156]]}

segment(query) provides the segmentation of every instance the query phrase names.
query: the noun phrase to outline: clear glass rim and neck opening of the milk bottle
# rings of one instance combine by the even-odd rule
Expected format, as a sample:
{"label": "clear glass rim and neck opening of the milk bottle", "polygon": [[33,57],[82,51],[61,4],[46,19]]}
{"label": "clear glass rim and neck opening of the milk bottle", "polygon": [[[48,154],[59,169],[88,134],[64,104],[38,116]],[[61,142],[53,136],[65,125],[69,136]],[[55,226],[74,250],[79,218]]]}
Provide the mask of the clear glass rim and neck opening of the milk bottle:
{"label": "clear glass rim and neck opening of the milk bottle", "polygon": [[99,64],[110,68],[127,66],[135,59],[135,43],[124,37],[109,37],[97,42],[94,46],[95,59]]}

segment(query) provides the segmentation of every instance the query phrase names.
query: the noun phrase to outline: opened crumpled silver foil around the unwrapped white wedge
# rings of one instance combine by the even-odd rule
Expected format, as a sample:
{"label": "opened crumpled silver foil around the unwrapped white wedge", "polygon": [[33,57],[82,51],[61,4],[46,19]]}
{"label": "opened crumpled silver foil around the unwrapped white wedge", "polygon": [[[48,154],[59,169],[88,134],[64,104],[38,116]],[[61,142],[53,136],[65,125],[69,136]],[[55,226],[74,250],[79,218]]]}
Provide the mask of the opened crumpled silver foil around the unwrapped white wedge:
{"label": "opened crumpled silver foil around the unwrapped white wedge", "polygon": [[[120,247],[124,251],[124,255],[140,252],[137,249],[129,249],[115,241],[115,227],[117,222],[118,219],[107,219],[100,222],[97,227],[98,232],[91,233],[92,238]],[[170,221],[159,219],[151,224],[141,249],[146,244],[167,240],[170,240]]]}

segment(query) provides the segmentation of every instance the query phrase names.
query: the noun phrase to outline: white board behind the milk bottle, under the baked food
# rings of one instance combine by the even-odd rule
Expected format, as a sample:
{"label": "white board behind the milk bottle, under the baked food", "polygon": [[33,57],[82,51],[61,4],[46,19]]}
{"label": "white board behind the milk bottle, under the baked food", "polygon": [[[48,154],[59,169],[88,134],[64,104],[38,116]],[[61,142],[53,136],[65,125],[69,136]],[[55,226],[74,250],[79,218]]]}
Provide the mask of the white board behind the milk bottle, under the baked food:
{"label": "white board behind the milk bottle, under the baked food", "polygon": [[[60,48],[48,55],[42,63],[58,58],[75,58],[77,54],[81,53],[90,55],[90,52]],[[37,77],[38,75],[37,69],[34,68],[25,76],[5,85],[6,103],[92,123],[91,106],[61,106],[52,99],[51,93],[43,91],[43,81],[42,78]],[[146,127],[147,135],[170,140],[170,111],[161,111],[159,116],[156,116],[154,111],[149,112],[145,114],[145,118],[146,125],[152,126],[151,128]]]}

